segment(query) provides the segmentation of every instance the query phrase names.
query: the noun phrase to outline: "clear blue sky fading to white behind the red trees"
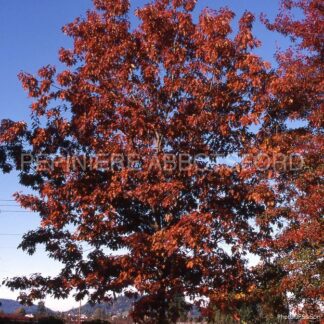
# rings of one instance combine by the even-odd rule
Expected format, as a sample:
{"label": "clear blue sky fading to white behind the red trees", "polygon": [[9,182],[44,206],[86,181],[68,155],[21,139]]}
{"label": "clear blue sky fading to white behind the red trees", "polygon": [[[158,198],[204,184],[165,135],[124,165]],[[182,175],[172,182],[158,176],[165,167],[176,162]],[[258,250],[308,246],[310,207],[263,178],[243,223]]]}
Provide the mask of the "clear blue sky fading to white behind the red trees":
{"label": "clear blue sky fading to white behind the red trees", "polygon": [[[133,9],[144,3],[144,0],[131,0]],[[71,46],[71,39],[61,32],[61,27],[83,15],[92,4],[90,0],[1,0],[0,4],[0,119],[28,120],[31,102],[17,74],[19,71],[34,73],[46,64],[59,66],[58,49]],[[248,9],[257,16],[266,12],[271,18],[276,14],[278,4],[279,0],[198,0],[196,12],[205,6],[213,9],[228,6],[237,17]],[[135,23],[135,20],[132,22]],[[258,21],[254,30],[263,41],[257,54],[273,63],[276,47],[287,46],[287,40],[270,33]],[[13,199],[12,194],[16,191],[26,191],[19,186],[17,176],[0,174],[0,282],[5,277],[35,272],[53,275],[60,268],[59,264],[47,258],[44,251],[40,250],[30,257],[16,249],[21,234],[36,228],[39,222],[37,215],[15,212],[19,210],[14,206],[16,203],[5,201]],[[0,298],[16,297],[16,292],[0,287]],[[48,298],[46,305],[56,310],[67,310],[76,307],[77,303],[72,299],[57,301]]]}

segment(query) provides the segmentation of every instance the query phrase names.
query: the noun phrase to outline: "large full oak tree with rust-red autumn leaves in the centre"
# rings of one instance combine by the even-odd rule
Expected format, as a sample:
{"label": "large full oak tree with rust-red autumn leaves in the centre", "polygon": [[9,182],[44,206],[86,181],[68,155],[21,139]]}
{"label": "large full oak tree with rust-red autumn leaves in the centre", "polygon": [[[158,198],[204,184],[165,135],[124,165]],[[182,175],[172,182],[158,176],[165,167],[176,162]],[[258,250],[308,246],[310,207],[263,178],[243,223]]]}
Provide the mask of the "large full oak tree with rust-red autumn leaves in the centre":
{"label": "large full oak tree with rust-red autumn leaves in the centre", "polygon": [[[270,280],[264,268],[279,247],[298,257],[290,253],[297,230],[291,224],[296,217],[316,220],[317,210],[308,215],[288,205],[306,206],[296,188],[310,171],[232,167],[218,156],[288,155],[298,135],[298,153],[304,148],[318,159],[318,108],[307,101],[318,88],[297,83],[297,62],[282,59],[281,70],[269,71],[253,53],[259,41],[250,12],[233,36],[232,11],[205,9],[195,22],[193,0],[147,4],[136,11],[136,28],[128,1],[94,0],[94,7],[63,29],[74,41],[59,52],[64,71],[45,66],[37,76],[20,74],[33,98],[32,122],[1,124],[0,166],[20,172],[35,194],[16,199],[41,217],[20,247],[33,254],[43,244],[62,263],[57,277],[35,274],[7,285],[22,289],[24,301],[72,291],[94,302],[135,294],[133,318],[153,323],[175,321],[179,310],[171,306],[184,295],[235,314],[247,296],[251,302],[269,292],[262,288]],[[281,22],[269,27],[280,29]],[[306,58],[303,67],[312,78]],[[284,126],[289,118],[310,124],[294,133]],[[55,163],[22,165],[28,154]],[[197,155],[195,163],[179,164]],[[118,160],[106,167],[99,156]],[[86,165],[71,167],[70,157]],[[307,188],[306,195],[313,192],[312,183]],[[307,199],[307,206],[319,201]],[[282,217],[289,226],[276,240]],[[298,223],[302,233],[307,224]],[[248,252],[262,258],[261,271],[248,267]],[[274,272],[287,282],[291,272],[279,261]],[[282,288],[271,294],[282,300]]]}

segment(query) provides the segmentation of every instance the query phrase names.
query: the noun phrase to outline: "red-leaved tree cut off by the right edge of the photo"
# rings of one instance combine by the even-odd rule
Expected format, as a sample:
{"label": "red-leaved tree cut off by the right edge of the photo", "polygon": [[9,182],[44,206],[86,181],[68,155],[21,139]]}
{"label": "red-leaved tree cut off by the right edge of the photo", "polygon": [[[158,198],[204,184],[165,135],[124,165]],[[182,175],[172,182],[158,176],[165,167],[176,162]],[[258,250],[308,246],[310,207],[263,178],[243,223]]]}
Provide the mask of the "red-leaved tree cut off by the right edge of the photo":
{"label": "red-leaved tree cut off by the right edge of the photo", "polygon": [[251,150],[258,148],[258,153],[274,157],[277,163],[266,172],[250,169],[263,188],[256,198],[268,204],[259,225],[273,233],[273,239],[261,241],[260,247],[271,251],[271,262],[282,269],[277,293],[272,295],[285,294],[297,313],[319,317],[323,294],[323,12],[321,1],[284,0],[273,23],[263,17],[270,30],[290,37],[292,46],[277,53],[278,69],[267,88],[267,113],[251,142]]}

